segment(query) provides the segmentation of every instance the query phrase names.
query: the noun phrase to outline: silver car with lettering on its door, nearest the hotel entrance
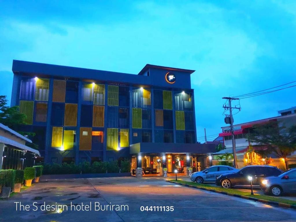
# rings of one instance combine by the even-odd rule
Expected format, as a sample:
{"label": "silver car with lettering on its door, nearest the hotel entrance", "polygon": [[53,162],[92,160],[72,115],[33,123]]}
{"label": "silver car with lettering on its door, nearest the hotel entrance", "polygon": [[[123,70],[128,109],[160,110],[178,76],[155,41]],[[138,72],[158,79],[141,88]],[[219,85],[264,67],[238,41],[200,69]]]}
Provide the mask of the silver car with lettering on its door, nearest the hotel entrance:
{"label": "silver car with lettering on its door, nearest the hotel entrance", "polygon": [[238,169],[230,166],[212,166],[200,172],[192,173],[192,175],[190,176],[190,180],[197,183],[215,182],[216,177],[220,176],[221,174],[235,173],[237,171]]}

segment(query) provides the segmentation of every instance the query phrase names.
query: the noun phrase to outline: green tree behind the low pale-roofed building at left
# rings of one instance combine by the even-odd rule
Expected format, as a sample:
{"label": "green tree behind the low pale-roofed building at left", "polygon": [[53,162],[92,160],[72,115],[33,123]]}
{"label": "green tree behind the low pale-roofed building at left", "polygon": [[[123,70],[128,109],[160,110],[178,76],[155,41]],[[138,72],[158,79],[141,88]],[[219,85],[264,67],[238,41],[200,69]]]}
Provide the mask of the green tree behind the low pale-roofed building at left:
{"label": "green tree behind the low pale-roofed building at left", "polygon": [[[7,102],[6,96],[0,95],[0,123],[12,130],[17,131],[17,126],[19,124],[26,124],[27,116],[20,113],[18,106],[7,106]],[[18,131],[18,133],[30,137],[34,137],[36,135],[34,132]],[[26,143],[26,146],[38,149],[38,145],[35,143]]]}

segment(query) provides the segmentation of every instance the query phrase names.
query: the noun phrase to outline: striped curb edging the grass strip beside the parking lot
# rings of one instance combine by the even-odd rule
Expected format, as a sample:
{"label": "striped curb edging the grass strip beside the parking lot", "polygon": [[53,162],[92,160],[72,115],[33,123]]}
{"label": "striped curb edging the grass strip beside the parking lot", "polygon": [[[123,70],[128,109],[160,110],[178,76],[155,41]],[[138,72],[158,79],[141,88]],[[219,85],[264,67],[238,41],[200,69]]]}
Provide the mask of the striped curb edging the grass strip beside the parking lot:
{"label": "striped curb edging the grass strip beside the parking lot", "polygon": [[191,188],[195,188],[195,189],[211,191],[211,192],[214,192],[214,193],[225,194],[225,195],[232,196],[232,197],[240,197],[240,198],[243,198],[243,199],[253,200],[253,201],[257,201],[257,202],[261,202],[261,203],[265,203],[265,204],[270,204],[270,205],[274,205],[274,206],[286,207],[286,208],[290,208],[290,209],[296,209],[295,205],[278,203],[278,202],[274,202],[274,201],[258,199],[258,198],[255,198],[255,197],[246,197],[246,196],[242,196],[242,195],[239,195],[239,194],[230,194],[230,193],[223,192],[223,191],[212,190],[212,189],[208,189],[208,188],[204,188],[204,187],[192,186],[192,185],[183,184],[183,183],[179,183],[179,182],[175,182],[175,181],[167,180],[167,182],[176,183],[176,184],[181,185],[181,186],[191,187]]}

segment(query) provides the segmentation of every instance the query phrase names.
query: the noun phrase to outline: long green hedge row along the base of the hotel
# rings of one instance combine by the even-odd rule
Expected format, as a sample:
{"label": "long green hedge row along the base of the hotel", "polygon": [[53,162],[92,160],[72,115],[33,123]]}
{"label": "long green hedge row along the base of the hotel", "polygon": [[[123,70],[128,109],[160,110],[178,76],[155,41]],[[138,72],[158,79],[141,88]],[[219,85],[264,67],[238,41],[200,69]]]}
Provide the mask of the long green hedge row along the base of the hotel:
{"label": "long green hedge row along the base of the hotel", "polygon": [[129,161],[121,161],[120,166],[118,165],[118,161],[113,162],[94,162],[90,164],[90,162],[81,162],[78,165],[73,162],[68,163],[50,163],[44,164],[43,166],[43,174],[80,174],[80,173],[118,173],[121,170],[122,173],[130,172],[130,162]]}

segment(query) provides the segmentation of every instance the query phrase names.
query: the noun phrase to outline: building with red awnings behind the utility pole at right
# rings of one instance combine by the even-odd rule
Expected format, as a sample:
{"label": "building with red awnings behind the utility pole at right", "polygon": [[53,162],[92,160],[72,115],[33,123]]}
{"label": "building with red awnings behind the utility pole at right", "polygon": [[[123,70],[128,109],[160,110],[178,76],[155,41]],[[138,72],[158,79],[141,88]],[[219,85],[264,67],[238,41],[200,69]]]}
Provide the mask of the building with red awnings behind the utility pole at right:
{"label": "building with red awnings behind the utility pole at right", "polygon": [[[286,110],[284,110],[286,112]],[[281,111],[279,111],[280,113]],[[296,125],[296,114],[285,114],[281,116],[271,117],[267,119],[260,119],[256,121],[241,123],[241,124],[235,124],[234,125],[234,135],[235,135],[235,148],[236,148],[236,154],[237,154],[237,160],[239,167],[244,166],[244,155],[246,154],[247,150],[249,149],[250,145],[256,145],[255,143],[250,143],[246,135],[250,132],[252,132],[253,126],[256,124],[265,124],[270,121],[276,121],[278,122],[279,126],[285,126],[286,128],[282,130],[281,133],[287,132],[287,129],[291,127],[292,125]],[[217,155],[223,155],[225,153],[232,153],[232,137],[230,132],[230,127],[221,127],[222,133],[219,134],[219,136],[223,137],[224,139],[224,145],[225,149],[221,150],[219,152],[216,152],[214,154],[214,159],[217,159]],[[254,146],[255,150],[265,149],[264,146]],[[272,156],[274,157],[274,156]],[[288,159],[288,164],[294,163],[296,161],[296,155],[295,153],[292,153],[292,155]],[[279,164],[280,159],[276,158],[274,164]],[[264,161],[263,161],[264,162]]]}

